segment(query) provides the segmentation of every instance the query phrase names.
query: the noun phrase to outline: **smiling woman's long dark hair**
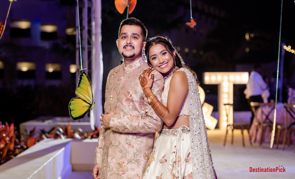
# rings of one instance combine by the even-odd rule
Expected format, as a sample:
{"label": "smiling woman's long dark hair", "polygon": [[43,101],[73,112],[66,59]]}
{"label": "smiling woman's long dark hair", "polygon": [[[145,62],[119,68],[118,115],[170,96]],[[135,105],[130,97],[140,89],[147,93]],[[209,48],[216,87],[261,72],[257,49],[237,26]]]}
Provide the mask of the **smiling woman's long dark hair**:
{"label": "smiling woman's long dark hair", "polygon": [[[165,49],[168,51],[168,53],[170,53],[170,55],[173,56],[173,58],[176,61],[176,66],[178,66],[178,68],[187,68],[188,70],[190,70],[191,73],[196,78],[196,81],[198,83],[196,72],[194,72],[193,70],[191,70],[188,66],[186,66],[184,64],[183,59],[181,58],[181,56],[179,55],[179,53],[177,52],[177,50],[175,49],[175,47],[173,47],[171,40],[168,39],[167,37],[155,36],[155,37],[150,38],[146,42],[146,44],[145,44],[145,54],[146,54],[147,61],[148,61],[148,64],[149,65],[151,65],[151,63],[150,63],[150,57],[149,57],[150,48],[152,46],[154,46],[154,45],[157,45],[157,44],[163,45],[165,47]],[[175,55],[173,54],[173,50],[175,50]]]}

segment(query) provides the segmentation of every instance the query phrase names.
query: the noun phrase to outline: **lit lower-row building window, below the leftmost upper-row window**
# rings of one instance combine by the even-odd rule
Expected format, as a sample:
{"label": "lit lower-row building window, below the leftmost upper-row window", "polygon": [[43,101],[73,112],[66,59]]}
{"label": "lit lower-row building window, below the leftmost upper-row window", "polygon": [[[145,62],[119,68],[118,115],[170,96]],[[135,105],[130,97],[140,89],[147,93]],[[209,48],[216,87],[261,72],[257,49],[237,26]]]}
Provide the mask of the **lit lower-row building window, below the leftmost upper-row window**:
{"label": "lit lower-row building window, below the leftmost upper-row window", "polygon": [[36,64],[32,62],[17,63],[17,78],[18,79],[35,79]]}

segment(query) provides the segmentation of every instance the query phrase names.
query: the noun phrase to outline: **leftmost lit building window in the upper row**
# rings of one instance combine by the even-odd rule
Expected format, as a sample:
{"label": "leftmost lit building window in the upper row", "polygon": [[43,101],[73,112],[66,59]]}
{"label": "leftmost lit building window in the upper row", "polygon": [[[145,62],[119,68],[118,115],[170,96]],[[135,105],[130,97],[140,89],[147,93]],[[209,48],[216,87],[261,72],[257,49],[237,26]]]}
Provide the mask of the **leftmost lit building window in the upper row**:
{"label": "leftmost lit building window in the upper row", "polygon": [[10,22],[10,37],[30,37],[31,22],[30,21],[12,21]]}

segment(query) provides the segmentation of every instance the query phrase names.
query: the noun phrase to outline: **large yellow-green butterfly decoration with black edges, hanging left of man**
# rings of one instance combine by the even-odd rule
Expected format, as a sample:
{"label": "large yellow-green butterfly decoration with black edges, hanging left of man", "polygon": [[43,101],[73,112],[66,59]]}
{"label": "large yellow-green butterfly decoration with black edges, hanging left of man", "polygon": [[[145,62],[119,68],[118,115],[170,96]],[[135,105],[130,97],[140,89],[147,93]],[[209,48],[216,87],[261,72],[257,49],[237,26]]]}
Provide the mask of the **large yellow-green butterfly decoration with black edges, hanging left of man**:
{"label": "large yellow-green butterfly decoration with black edges, hanging left of man", "polygon": [[74,120],[83,118],[94,106],[90,79],[83,70],[79,73],[79,82],[75,92],[79,97],[72,98],[69,103],[69,113]]}

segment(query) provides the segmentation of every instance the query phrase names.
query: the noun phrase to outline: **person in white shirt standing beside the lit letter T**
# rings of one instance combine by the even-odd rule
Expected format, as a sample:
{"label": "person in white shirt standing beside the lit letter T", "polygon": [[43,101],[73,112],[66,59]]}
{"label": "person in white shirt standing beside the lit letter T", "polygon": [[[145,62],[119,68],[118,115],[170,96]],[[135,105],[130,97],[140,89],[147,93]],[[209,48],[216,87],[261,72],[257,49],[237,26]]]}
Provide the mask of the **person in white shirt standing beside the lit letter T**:
{"label": "person in white shirt standing beside the lit letter T", "polygon": [[[249,80],[248,80],[248,83],[246,84],[246,89],[244,91],[244,94],[246,95],[246,98],[248,99],[248,105],[250,107],[250,111],[252,111],[250,102],[263,103],[263,99],[261,95],[263,91],[267,89],[267,85],[264,82],[262,76],[260,75],[260,72],[261,72],[261,65],[255,64],[252,72],[249,75]],[[253,118],[254,118],[254,114],[252,111],[251,124],[252,124]]]}

